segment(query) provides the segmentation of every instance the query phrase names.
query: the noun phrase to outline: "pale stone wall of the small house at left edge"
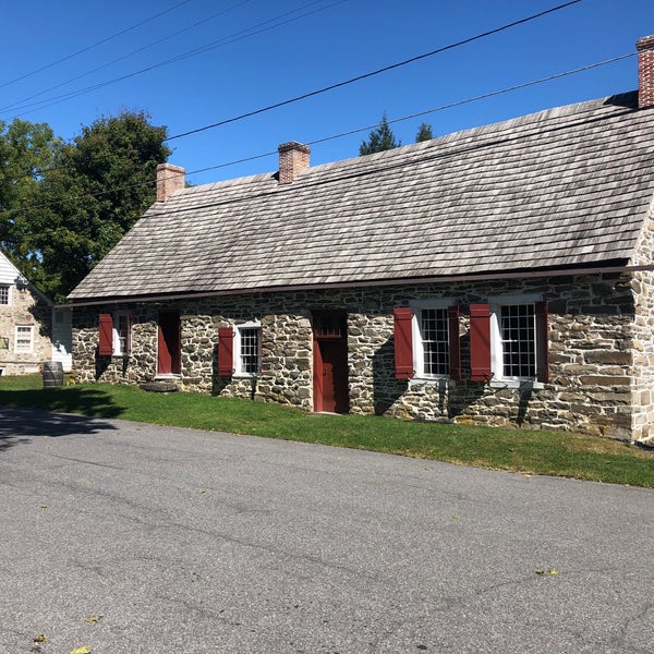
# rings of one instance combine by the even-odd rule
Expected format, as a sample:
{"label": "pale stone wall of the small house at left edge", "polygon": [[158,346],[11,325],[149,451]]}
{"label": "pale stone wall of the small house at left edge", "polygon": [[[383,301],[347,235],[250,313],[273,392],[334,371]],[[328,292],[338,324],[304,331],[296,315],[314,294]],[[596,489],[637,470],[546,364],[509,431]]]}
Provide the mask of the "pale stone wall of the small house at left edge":
{"label": "pale stone wall of the small house at left edge", "polygon": [[[15,352],[16,325],[33,326],[32,352]],[[44,361],[52,358],[52,308],[28,286],[10,287],[9,305],[0,305],[0,337],[8,339],[0,347],[0,370],[4,375],[23,375],[40,372]]]}

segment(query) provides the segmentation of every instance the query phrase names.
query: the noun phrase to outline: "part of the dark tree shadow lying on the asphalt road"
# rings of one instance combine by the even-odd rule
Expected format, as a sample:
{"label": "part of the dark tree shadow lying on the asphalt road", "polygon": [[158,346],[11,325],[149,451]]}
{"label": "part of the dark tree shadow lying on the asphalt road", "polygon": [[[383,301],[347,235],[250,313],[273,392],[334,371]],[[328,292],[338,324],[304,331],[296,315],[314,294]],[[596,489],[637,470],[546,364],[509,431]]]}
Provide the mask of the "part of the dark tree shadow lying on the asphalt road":
{"label": "part of the dark tree shadow lying on the asphalt road", "polygon": [[39,436],[92,435],[117,428],[97,417],[0,407],[0,451]]}

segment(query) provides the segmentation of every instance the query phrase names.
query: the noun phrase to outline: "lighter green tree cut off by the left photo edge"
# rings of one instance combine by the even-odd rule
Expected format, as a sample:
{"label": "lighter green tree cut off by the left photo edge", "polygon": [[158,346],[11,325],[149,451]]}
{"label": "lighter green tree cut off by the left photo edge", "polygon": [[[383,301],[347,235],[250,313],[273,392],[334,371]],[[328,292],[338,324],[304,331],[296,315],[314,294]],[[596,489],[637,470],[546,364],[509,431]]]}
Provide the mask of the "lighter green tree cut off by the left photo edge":
{"label": "lighter green tree cut off by the left photo edge", "polygon": [[44,171],[56,159],[61,140],[47,123],[14,119],[0,121],[0,247],[29,275],[26,234],[31,229],[24,208],[36,204]]}

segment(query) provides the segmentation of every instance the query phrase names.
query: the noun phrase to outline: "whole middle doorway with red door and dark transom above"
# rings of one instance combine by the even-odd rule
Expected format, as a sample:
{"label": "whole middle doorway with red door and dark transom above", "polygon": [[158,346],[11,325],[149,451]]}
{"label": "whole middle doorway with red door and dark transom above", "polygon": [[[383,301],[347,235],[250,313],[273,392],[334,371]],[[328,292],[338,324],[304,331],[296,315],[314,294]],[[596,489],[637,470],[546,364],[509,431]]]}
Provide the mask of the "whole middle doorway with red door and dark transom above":
{"label": "whole middle doorway with red door and dark transom above", "polygon": [[341,311],[313,312],[314,411],[348,413],[347,316]]}

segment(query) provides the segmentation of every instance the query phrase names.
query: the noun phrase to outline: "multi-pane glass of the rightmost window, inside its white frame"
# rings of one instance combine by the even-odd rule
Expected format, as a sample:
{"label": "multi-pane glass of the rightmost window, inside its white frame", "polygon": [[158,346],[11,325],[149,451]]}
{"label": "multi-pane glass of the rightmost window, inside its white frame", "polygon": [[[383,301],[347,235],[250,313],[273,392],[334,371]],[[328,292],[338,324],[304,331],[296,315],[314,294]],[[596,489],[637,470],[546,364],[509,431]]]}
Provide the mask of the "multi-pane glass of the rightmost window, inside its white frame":
{"label": "multi-pane glass of the rightmost window, inside its white frame", "polygon": [[500,307],[500,332],[505,377],[536,374],[535,318],[533,304]]}

